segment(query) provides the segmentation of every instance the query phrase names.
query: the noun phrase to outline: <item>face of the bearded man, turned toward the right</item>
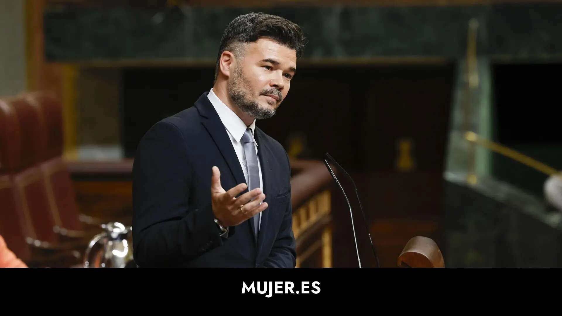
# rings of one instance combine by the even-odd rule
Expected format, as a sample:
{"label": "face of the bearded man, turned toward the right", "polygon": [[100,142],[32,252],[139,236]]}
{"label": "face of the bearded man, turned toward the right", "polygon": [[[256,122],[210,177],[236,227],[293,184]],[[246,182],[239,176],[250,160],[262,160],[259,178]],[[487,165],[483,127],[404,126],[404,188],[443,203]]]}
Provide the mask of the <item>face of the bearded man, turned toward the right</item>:
{"label": "face of the bearded man, turned toward the right", "polygon": [[296,65],[294,49],[269,38],[248,43],[231,71],[228,94],[246,114],[270,118],[289,92]]}

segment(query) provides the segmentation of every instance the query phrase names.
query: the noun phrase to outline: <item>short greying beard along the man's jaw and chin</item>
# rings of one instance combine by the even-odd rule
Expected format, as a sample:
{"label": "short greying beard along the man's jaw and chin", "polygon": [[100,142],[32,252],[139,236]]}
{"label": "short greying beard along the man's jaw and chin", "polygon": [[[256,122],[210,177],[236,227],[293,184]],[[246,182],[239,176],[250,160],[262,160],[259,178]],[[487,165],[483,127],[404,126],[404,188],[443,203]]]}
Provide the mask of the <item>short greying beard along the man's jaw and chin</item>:
{"label": "short greying beard along the man's jaw and chin", "polygon": [[[252,97],[253,91],[250,82],[246,79],[238,65],[234,69],[232,80],[226,83],[226,90],[230,100],[244,113],[252,116],[252,118],[257,120],[269,119],[275,115],[275,108],[262,106]],[[264,89],[261,94],[274,94],[279,97],[279,101],[276,102],[281,103],[283,101],[281,92],[273,87]]]}

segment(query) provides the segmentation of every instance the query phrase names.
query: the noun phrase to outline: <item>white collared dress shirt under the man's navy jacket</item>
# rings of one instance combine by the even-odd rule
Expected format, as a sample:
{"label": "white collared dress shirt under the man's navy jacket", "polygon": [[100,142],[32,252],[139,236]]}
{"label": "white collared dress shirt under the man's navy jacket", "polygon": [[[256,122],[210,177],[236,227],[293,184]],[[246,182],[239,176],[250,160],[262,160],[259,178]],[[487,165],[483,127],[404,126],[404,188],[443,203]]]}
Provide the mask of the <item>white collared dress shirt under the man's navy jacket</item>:
{"label": "white collared dress shirt under the man's navy jacket", "polygon": [[[220,101],[219,97],[216,96],[215,92],[212,90],[207,94],[207,98],[211,101],[213,107],[215,107],[215,111],[219,114],[220,120],[223,122],[224,128],[226,129],[226,133],[230,137],[230,142],[232,142],[232,147],[234,147],[234,151],[236,152],[236,156],[238,156],[238,161],[240,161],[240,166],[242,167],[242,171],[244,172],[244,178],[246,178],[246,184],[248,184],[248,168],[246,166],[246,155],[244,154],[244,146],[241,142],[242,136],[244,132],[246,132],[247,128],[252,130],[252,136],[254,134],[254,130],[256,128],[256,120],[253,120],[250,127],[246,127],[246,124],[236,115],[228,106],[224,104],[223,101]],[[254,147],[256,148],[256,155],[257,155],[257,143],[254,142]],[[260,159],[257,160],[257,168],[260,170],[260,188],[263,192],[264,190],[264,180],[261,177],[261,165]],[[237,183],[239,184],[239,183]],[[261,225],[261,213],[260,213],[260,225]]]}

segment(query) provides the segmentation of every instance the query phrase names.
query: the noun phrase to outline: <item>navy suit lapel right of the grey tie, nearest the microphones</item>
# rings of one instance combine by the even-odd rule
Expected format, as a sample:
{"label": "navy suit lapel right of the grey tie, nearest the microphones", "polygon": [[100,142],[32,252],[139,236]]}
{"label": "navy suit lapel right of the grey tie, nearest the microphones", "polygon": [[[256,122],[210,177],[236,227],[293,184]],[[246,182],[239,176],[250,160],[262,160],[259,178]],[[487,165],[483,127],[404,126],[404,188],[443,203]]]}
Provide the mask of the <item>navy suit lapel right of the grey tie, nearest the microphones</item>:
{"label": "navy suit lapel right of the grey tie, nearest the microphones", "polygon": [[260,129],[256,128],[256,142],[257,142],[257,152],[258,157],[260,159],[261,165],[261,177],[264,183],[264,194],[265,200],[264,202],[268,203],[268,208],[261,212],[261,224],[260,224],[260,231],[258,232],[257,238],[257,249],[258,253],[261,250],[261,245],[264,242],[264,236],[267,233],[268,227],[268,219],[269,219],[269,210],[271,209],[271,200],[273,200],[273,191],[271,188],[271,162],[273,162],[273,155],[271,151],[264,142],[264,137],[262,136],[262,132]]}

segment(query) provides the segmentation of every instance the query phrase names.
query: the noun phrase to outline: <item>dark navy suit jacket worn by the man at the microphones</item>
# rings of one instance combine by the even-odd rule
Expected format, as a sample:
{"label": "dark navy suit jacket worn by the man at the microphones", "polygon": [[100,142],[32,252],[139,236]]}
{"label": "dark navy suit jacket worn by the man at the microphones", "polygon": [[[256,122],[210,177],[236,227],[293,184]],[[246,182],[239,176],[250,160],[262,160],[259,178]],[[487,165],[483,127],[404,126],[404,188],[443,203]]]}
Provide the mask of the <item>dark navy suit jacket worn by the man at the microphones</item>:
{"label": "dark navy suit jacket worn by the man at the microphones", "polygon": [[295,266],[288,156],[259,128],[254,134],[268,208],[258,236],[250,219],[230,227],[224,238],[211,208],[211,168],[219,167],[226,191],[246,179],[207,92],[195,106],[148,130],[133,165],[133,250],[139,267]]}

